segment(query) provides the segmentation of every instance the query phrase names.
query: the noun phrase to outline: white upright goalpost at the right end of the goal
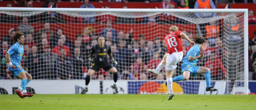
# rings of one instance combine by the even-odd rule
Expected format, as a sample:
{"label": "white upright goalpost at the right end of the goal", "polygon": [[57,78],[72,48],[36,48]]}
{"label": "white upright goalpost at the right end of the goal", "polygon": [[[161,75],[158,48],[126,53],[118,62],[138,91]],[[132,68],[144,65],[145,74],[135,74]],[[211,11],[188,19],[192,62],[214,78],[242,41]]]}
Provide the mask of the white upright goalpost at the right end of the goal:
{"label": "white upright goalpost at the right end of the goal", "polygon": [[244,45],[245,45],[245,56],[244,56],[244,65],[245,65],[245,67],[244,67],[244,75],[245,75],[245,78],[244,78],[244,86],[245,86],[245,95],[248,95],[248,87],[249,87],[249,83],[248,83],[248,80],[249,80],[249,78],[248,78],[248,74],[249,74],[249,64],[248,64],[248,61],[249,61],[249,59],[248,59],[248,57],[249,57],[249,53],[248,53],[248,9],[244,12],[245,14],[244,14]]}

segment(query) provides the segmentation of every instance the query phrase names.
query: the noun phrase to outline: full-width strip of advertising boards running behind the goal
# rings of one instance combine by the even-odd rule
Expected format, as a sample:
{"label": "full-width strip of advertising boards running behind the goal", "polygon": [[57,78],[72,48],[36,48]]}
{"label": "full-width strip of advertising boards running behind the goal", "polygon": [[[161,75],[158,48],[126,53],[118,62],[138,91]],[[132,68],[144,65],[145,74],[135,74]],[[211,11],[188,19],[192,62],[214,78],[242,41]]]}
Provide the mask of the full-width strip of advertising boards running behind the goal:
{"label": "full-width strip of advertising boards running behind the goal", "polygon": [[[0,94],[14,94],[20,80],[0,80]],[[91,80],[87,94],[113,94],[113,80]],[[211,81],[217,92],[206,92],[205,80],[173,82],[175,94],[243,94],[243,83],[235,82],[236,87],[227,86],[227,81]],[[256,81],[249,81],[249,93],[256,93]],[[118,94],[168,94],[162,80],[118,80]],[[228,88],[227,88],[228,87]],[[33,80],[27,91],[36,94],[79,94],[85,88],[85,80]]]}

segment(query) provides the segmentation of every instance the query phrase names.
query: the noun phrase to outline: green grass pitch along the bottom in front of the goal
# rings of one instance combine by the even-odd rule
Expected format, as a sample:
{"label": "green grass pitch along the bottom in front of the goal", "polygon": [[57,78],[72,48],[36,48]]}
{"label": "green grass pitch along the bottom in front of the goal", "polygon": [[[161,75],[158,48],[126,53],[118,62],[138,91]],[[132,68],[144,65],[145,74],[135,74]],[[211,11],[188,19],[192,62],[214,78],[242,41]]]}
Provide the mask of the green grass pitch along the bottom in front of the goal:
{"label": "green grass pitch along the bottom in front of the goal", "polygon": [[255,110],[256,95],[0,95],[1,110]]}

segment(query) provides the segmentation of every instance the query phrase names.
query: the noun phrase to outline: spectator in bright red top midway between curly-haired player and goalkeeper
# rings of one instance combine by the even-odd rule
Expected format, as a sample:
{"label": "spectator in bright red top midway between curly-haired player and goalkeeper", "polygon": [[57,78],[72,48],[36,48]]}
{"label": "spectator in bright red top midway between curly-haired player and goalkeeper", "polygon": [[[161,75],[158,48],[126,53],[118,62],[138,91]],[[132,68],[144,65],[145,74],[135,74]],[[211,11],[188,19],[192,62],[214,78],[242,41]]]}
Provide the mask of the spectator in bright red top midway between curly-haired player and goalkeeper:
{"label": "spectator in bright red top midway between curly-haired player and goalkeeper", "polygon": [[63,39],[59,39],[59,40],[58,40],[58,46],[55,46],[55,47],[53,48],[53,50],[51,50],[51,52],[56,53],[56,54],[59,56],[59,55],[60,55],[60,54],[59,54],[59,50],[60,50],[60,49],[64,49],[65,52],[66,52],[66,56],[68,56],[68,57],[71,58],[70,48],[69,48],[68,46],[65,46],[65,45],[64,45]]}

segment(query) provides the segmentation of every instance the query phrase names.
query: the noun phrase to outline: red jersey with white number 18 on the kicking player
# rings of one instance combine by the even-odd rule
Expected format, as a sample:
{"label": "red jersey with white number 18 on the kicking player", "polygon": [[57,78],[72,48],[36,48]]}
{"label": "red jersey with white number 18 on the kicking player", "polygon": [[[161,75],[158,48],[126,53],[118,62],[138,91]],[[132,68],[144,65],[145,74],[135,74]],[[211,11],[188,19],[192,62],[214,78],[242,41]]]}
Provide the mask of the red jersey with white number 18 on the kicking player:
{"label": "red jersey with white number 18 on the kicking player", "polygon": [[181,31],[171,32],[165,37],[165,43],[167,47],[167,53],[172,54],[173,52],[183,51],[181,37]]}

